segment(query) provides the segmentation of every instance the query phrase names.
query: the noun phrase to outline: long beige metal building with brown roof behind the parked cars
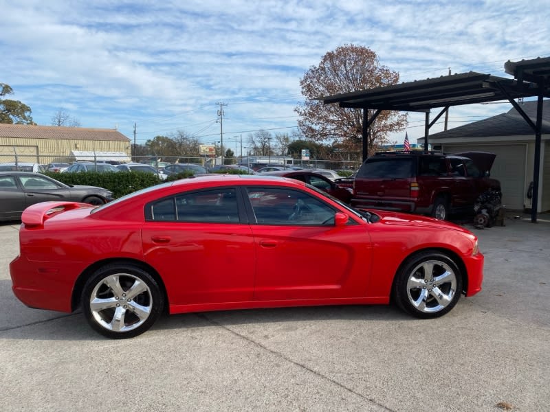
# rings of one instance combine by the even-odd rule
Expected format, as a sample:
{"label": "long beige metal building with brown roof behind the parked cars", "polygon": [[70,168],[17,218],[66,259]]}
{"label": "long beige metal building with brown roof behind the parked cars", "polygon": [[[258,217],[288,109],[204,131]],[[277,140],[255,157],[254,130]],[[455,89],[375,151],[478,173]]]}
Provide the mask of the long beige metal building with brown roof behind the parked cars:
{"label": "long beige metal building with brown roof behind the parked cars", "polygon": [[114,129],[0,124],[0,163],[130,161],[131,141]]}

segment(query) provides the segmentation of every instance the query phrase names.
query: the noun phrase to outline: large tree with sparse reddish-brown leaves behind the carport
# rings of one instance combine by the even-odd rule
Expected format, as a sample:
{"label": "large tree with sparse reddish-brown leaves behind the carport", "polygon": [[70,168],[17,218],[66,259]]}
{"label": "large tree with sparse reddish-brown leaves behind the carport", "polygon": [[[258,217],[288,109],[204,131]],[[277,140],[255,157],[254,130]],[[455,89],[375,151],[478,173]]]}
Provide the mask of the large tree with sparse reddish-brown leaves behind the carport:
{"label": "large tree with sparse reddish-brown leaves behind the carport", "polygon": [[[342,149],[360,152],[363,115],[360,108],[342,108],[323,104],[318,98],[338,93],[372,89],[396,84],[399,73],[381,66],[368,47],[344,45],[321,58],[300,80],[306,100],[296,107],[298,127],[307,139],[332,140]],[[373,113],[369,111],[369,117]],[[403,130],[407,117],[393,111],[382,111],[371,126],[369,151],[388,141],[389,133]]]}

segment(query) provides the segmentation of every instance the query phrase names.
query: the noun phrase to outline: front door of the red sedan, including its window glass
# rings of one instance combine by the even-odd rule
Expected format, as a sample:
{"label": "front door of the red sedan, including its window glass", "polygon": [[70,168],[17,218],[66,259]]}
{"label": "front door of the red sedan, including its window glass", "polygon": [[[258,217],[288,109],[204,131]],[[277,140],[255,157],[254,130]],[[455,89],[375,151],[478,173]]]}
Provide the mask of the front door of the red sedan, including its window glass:
{"label": "front door of the red sedan, including its window glass", "polygon": [[248,188],[256,225],[256,300],[361,297],[371,242],[366,225],[334,226],[336,210],[316,196]]}

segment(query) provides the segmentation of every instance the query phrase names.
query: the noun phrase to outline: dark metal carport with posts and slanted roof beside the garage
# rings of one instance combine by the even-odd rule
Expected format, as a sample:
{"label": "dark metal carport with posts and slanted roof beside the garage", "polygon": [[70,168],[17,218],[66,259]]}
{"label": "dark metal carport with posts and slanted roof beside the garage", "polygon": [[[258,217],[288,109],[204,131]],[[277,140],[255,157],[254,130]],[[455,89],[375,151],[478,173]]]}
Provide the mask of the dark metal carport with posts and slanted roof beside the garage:
{"label": "dark metal carport with posts and slanted roof beside the garage", "polygon": [[[340,107],[363,109],[363,160],[368,156],[369,126],[383,110],[416,111],[426,113],[424,126],[424,150],[428,151],[430,128],[450,106],[508,100],[533,128],[536,135],[535,168],[533,170],[533,205],[531,222],[537,220],[538,182],[540,173],[540,129],[542,126],[542,100],[550,97],[550,57],[508,61],[506,73],[513,79],[490,74],[468,73],[441,76],[440,78],[405,82],[393,86],[340,93],[320,98],[325,104],[338,103]],[[538,98],[535,124],[522,111],[515,99]],[[430,122],[432,108],[442,108]],[[369,115],[369,110],[372,114]]]}

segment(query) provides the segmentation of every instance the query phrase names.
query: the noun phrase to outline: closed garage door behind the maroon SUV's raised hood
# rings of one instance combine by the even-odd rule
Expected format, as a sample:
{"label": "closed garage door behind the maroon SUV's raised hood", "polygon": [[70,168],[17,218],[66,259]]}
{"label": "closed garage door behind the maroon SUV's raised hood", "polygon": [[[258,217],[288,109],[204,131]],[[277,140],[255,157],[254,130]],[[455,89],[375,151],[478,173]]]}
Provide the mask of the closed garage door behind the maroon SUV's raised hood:
{"label": "closed garage door behind the maroon SUV's raised hood", "polygon": [[524,208],[525,194],[525,144],[496,145],[443,145],[443,152],[491,152],[496,155],[491,169],[491,177],[498,179],[503,190],[503,205],[507,209]]}

